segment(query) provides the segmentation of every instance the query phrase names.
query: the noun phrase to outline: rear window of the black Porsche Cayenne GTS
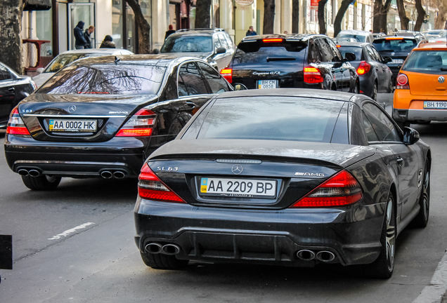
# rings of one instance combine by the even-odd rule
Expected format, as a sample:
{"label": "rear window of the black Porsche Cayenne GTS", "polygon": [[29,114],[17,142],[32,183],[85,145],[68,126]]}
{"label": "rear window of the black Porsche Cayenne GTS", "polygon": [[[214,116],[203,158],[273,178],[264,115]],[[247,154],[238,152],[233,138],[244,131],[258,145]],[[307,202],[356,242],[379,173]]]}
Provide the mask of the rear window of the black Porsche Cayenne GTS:
{"label": "rear window of the black Porsche Cayenne GTS", "polygon": [[262,41],[241,42],[236,50],[233,64],[266,64],[270,62],[272,65],[289,65],[293,62],[302,63],[306,47],[307,43],[302,41],[284,41],[279,43],[264,43]]}

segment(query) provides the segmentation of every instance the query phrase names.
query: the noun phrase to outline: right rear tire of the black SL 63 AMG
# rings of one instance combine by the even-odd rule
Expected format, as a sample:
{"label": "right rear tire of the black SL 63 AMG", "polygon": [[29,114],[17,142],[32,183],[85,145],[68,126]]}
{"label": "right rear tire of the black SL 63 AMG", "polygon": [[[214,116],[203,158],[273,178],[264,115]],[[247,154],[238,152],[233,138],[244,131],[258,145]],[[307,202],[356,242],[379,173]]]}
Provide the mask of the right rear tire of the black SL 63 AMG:
{"label": "right rear tire of the black SL 63 AMG", "polygon": [[391,278],[394,270],[394,253],[396,252],[396,215],[394,210],[394,196],[388,194],[387,206],[380,234],[380,255],[371,264],[364,266],[366,276],[372,278]]}

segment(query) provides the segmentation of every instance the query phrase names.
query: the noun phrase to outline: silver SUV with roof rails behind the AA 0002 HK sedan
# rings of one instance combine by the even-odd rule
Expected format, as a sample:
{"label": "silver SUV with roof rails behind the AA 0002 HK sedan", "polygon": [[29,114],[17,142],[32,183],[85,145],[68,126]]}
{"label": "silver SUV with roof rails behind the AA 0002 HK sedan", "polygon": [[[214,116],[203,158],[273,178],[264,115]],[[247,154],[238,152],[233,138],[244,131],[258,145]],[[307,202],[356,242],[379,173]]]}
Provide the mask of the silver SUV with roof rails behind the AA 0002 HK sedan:
{"label": "silver SUV with roof rails behind the AA 0002 HK sedan", "polygon": [[[235,46],[225,29],[179,29],[164,41],[160,53],[178,53],[206,60],[220,71],[233,57]],[[158,53],[155,49],[154,53]]]}

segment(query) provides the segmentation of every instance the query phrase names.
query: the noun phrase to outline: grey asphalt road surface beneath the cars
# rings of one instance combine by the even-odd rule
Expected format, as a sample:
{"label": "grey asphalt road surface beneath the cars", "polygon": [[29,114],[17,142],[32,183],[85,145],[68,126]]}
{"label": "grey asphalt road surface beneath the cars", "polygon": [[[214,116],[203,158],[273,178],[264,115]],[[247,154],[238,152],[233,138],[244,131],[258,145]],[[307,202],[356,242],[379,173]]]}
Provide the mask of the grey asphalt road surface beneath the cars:
{"label": "grey asphalt road surface beneath the cars", "polygon": [[[389,110],[391,95],[379,102]],[[432,146],[432,211],[426,229],[399,236],[388,281],[338,266],[149,269],[133,239],[135,181],[66,178],[29,191],[0,154],[0,234],[13,234],[15,261],[0,271],[0,302],[412,302],[447,248],[447,123],[415,128]]]}

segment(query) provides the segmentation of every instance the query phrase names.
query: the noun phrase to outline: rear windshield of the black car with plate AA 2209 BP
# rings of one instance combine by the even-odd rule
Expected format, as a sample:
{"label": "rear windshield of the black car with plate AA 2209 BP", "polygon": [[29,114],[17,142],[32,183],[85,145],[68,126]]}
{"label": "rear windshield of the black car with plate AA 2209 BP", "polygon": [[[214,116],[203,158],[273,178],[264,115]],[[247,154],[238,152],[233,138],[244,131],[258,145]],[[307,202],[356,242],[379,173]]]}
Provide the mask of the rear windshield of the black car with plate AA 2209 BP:
{"label": "rear windshield of the black car with plate AA 2209 BP", "polygon": [[304,97],[218,99],[209,109],[198,138],[330,142],[343,105]]}

